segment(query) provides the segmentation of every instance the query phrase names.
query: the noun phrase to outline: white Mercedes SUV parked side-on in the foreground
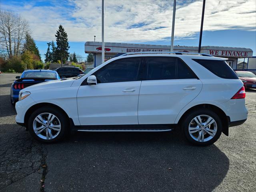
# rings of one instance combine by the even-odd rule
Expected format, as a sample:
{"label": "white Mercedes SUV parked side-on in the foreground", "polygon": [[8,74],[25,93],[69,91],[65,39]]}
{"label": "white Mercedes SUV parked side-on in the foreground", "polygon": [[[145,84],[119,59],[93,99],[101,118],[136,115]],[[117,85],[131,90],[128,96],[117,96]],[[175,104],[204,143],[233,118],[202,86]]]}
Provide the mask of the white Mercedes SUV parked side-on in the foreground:
{"label": "white Mercedes SUV parked side-on in the foreground", "polygon": [[[70,131],[168,131],[214,143],[247,118],[243,83],[224,58],[194,53],[132,53],[77,78],[20,91],[16,122],[42,142]],[[178,126],[177,126],[178,125]]]}

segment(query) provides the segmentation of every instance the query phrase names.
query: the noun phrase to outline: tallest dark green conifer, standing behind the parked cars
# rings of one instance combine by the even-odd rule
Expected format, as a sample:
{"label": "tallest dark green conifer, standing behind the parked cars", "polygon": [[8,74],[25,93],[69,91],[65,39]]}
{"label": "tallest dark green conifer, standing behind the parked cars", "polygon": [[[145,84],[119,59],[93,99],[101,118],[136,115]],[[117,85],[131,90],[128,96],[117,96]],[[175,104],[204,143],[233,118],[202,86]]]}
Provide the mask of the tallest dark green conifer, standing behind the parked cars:
{"label": "tallest dark green conifer, standing behind the parked cars", "polygon": [[62,64],[68,60],[69,52],[68,49],[68,34],[65,32],[62,25],[59,26],[59,29],[56,32],[56,55],[59,56],[59,60],[62,58]]}

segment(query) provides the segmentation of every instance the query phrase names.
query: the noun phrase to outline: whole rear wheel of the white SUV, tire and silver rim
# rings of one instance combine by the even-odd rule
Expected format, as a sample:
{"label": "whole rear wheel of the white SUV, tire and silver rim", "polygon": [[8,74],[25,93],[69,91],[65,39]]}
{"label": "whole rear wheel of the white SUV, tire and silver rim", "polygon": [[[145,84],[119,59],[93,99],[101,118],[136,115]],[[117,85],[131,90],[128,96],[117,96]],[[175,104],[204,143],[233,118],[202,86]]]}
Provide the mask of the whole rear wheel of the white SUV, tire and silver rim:
{"label": "whole rear wheel of the white SUV, tire and silver rim", "polygon": [[222,132],[219,116],[206,109],[192,111],[182,123],[189,142],[198,146],[207,146],[218,140]]}

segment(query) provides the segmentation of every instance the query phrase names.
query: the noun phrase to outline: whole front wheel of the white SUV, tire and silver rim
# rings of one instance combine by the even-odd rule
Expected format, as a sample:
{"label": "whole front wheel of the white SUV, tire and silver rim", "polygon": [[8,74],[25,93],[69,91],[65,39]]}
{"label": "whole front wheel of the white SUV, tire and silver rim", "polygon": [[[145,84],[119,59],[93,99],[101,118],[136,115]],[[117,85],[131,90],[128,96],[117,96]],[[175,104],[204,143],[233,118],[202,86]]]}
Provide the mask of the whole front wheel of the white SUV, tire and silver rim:
{"label": "whole front wheel of the white SUV, tire and silver rim", "polygon": [[56,142],[64,138],[68,130],[66,115],[53,107],[42,107],[28,119],[30,134],[41,142]]}

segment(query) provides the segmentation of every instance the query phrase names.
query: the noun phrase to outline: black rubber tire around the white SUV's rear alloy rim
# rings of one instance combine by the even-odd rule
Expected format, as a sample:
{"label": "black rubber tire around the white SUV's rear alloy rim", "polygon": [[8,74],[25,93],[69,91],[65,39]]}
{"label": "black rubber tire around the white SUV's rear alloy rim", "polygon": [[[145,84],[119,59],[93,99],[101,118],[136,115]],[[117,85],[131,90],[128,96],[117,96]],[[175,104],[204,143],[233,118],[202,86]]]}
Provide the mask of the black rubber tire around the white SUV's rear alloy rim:
{"label": "black rubber tire around the white SUV's rear alloy rim", "polygon": [[[195,140],[194,138],[192,138],[192,136],[190,136],[190,133],[189,133],[190,122],[192,122],[192,120],[196,116],[199,116],[199,115],[202,115],[202,116],[206,115],[206,116],[212,117],[215,120],[216,125],[217,125],[217,131],[216,131],[215,135],[210,140],[205,141],[205,142],[202,142],[202,141],[200,142],[200,141]],[[211,126],[213,126],[213,125],[211,125]],[[186,139],[191,144],[194,144],[197,146],[208,146],[208,145],[213,144],[214,142],[216,142],[218,140],[218,138],[220,138],[220,135],[222,133],[222,121],[220,120],[220,117],[212,110],[199,109],[199,110],[194,110],[194,111],[190,112],[189,114],[187,114],[187,116],[183,119],[182,129],[184,131]],[[210,136],[206,131],[202,131],[202,132],[204,133],[204,135]],[[197,133],[194,133],[194,134],[197,134]],[[198,132],[198,134],[199,134],[199,132]]]}

